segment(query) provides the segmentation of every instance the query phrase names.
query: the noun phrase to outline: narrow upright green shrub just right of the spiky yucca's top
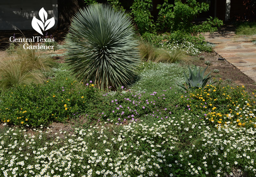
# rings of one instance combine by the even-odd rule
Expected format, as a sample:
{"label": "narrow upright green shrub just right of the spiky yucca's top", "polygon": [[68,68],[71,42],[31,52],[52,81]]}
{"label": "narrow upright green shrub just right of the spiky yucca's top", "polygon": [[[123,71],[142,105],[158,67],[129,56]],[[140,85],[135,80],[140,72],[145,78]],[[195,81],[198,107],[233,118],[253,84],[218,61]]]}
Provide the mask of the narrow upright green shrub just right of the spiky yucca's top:
{"label": "narrow upright green shrub just right of the spiky yucca's top", "polygon": [[149,9],[152,7],[152,0],[134,0],[131,9],[131,15],[134,17],[140,34],[152,30],[154,27],[152,15]]}

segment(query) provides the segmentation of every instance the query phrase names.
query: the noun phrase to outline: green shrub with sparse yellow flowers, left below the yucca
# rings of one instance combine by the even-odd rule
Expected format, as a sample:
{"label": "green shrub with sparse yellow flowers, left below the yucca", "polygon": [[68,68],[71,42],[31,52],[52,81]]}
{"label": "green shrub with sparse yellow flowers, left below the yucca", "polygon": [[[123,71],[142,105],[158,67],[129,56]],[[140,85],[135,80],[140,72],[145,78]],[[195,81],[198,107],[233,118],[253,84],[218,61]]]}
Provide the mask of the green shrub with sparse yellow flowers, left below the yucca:
{"label": "green shrub with sparse yellow flowers, left below the yucca", "polygon": [[65,70],[59,70],[55,76],[44,84],[21,85],[2,93],[0,120],[40,126],[65,122],[93,108],[89,106],[97,94],[93,84],[89,82],[84,88]]}

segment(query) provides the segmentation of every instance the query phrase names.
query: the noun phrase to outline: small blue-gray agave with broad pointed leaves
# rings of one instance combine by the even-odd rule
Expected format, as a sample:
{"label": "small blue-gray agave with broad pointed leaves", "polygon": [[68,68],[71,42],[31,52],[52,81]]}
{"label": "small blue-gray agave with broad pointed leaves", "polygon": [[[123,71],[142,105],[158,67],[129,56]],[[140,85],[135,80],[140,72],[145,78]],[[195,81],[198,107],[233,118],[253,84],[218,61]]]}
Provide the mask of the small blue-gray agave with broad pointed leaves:
{"label": "small blue-gray agave with broad pointed leaves", "polygon": [[[194,70],[192,71],[190,69],[190,67],[188,66],[189,77],[184,72],[184,76],[185,76],[185,80],[186,80],[188,89],[196,89],[196,88],[204,87],[206,85],[206,83],[208,82],[208,80],[210,80],[209,84],[213,84],[216,82],[216,81],[212,82],[211,76],[208,77],[211,74],[211,72],[208,73],[206,76],[204,76],[204,72],[207,69],[207,67],[204,68],[202,73],[200,73],[200,68],[199,68],[199,71],[197,71],[197,68],[195,66]],[[182,85],[181,83],[177,83],[177,84],[182,88],[182,90],[184,90],[184,91],[187,90],[187,88],[184,85]]]}

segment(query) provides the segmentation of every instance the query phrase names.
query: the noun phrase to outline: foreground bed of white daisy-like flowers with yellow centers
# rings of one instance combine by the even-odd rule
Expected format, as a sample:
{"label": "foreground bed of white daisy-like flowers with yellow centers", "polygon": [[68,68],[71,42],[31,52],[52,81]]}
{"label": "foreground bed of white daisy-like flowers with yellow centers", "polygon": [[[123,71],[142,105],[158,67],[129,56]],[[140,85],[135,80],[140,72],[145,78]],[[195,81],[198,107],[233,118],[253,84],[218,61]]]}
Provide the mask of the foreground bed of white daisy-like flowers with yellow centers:
{"label": "foreground bed of white daisy-like flowers with yellow centers", "polygon": [[4,176],[208,177],[256,171],[255,128],[216,128],[186,112],[124,126],[102,122],[53,137],[51,129],[35,129],[33,135],[26,129],[1,131]]}

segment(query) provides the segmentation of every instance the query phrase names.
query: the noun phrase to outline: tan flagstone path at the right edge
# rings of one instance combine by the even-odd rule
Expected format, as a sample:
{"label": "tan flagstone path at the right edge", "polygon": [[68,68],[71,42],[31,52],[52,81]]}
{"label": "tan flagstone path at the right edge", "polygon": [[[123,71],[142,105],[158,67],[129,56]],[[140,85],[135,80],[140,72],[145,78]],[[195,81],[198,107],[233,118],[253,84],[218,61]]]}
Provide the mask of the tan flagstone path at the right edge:
{"label": "tan flagstone path at the right edge", "polygon": [[253,36],[237,37],[232,26],[226,26],[213,34],[204,34],[205,40],[217,44],[214,50],[256,82],[256,45]]}

